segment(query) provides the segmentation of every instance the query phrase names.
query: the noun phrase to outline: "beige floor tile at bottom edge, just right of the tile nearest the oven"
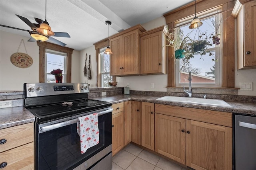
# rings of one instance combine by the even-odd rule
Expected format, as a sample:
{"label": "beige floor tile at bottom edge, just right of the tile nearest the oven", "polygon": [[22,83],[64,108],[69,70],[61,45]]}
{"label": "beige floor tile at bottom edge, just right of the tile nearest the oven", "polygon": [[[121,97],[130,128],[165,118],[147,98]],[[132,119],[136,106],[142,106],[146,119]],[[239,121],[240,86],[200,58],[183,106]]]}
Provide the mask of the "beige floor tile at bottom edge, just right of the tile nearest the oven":
{"label": "beige floor tile at bottom edge, just right of the tile nearest the oven", "polygon": [[153,164],[137,157],[126,170],[154,170],[154,168]]}

